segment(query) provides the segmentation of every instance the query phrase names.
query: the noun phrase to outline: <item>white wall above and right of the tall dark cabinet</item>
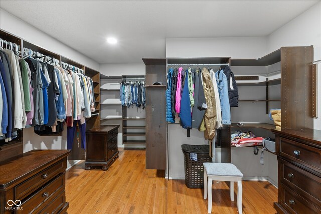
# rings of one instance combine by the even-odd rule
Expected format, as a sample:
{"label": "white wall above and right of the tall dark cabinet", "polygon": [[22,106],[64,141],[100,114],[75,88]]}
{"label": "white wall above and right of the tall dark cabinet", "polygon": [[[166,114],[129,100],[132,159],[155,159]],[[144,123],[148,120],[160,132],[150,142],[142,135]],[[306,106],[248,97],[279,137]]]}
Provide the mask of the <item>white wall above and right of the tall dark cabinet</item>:
{"label": "white wall above and right of the tall dark cabinet", "polygon": [[[314,60],[321,59],[321,2],[268,36],[268,52],[282,46],[314,46]],[[321,64],[318,64],[318,119],[314,129],[321,130]]]}

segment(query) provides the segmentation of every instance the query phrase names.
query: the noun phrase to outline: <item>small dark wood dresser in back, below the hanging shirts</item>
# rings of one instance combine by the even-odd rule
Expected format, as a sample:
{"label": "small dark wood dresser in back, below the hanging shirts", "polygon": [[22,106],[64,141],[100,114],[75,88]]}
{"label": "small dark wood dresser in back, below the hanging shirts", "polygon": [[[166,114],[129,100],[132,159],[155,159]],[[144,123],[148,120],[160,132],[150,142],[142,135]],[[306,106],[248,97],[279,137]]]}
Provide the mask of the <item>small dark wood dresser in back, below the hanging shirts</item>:
{"label": "small dark wood dresser in back, below the hanging shirts", "polygon": [[118,128],[119,125],[110,125],[86,131],[86,170],[99,166],[106,171],[118,158]]}

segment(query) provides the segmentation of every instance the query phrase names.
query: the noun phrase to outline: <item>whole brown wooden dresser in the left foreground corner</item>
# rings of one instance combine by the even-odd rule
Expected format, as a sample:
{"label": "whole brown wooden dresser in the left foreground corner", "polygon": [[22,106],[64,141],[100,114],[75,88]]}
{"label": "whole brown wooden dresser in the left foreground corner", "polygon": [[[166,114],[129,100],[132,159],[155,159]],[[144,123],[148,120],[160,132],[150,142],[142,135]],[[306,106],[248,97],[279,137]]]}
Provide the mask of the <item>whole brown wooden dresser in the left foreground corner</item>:
{"label": "whole brown wooden dresser in the left foreground corner", "polygon": [[67,213],[68,154],[32,150],[0,162],[0,213]]}

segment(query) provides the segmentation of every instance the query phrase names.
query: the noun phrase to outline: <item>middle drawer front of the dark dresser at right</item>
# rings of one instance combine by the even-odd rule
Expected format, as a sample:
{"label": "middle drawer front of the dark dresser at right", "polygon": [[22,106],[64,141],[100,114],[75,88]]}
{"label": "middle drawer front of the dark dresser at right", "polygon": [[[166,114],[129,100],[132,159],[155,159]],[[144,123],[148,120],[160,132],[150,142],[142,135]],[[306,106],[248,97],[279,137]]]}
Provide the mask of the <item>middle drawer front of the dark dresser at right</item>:
{"label": "middle drawer front of the dark dresser at right", "polygon": [[321,178],[287,161],[280,160],[282,182],[292,188],[298,188],[316,198],[321,203]]}

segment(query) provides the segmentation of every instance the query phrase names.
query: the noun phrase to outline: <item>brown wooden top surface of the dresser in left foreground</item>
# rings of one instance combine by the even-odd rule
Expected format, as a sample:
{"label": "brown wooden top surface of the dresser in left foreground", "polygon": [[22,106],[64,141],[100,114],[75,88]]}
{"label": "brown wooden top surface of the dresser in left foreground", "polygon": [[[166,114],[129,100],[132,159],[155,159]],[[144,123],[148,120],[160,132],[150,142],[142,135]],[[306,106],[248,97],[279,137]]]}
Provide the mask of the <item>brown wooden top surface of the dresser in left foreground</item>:
{"label": "brown wooden top surface of the dresser in left foreground", "polygon": [[69,155],[68,150],[32,150],[0,163],[0,190],[17,185]]}

